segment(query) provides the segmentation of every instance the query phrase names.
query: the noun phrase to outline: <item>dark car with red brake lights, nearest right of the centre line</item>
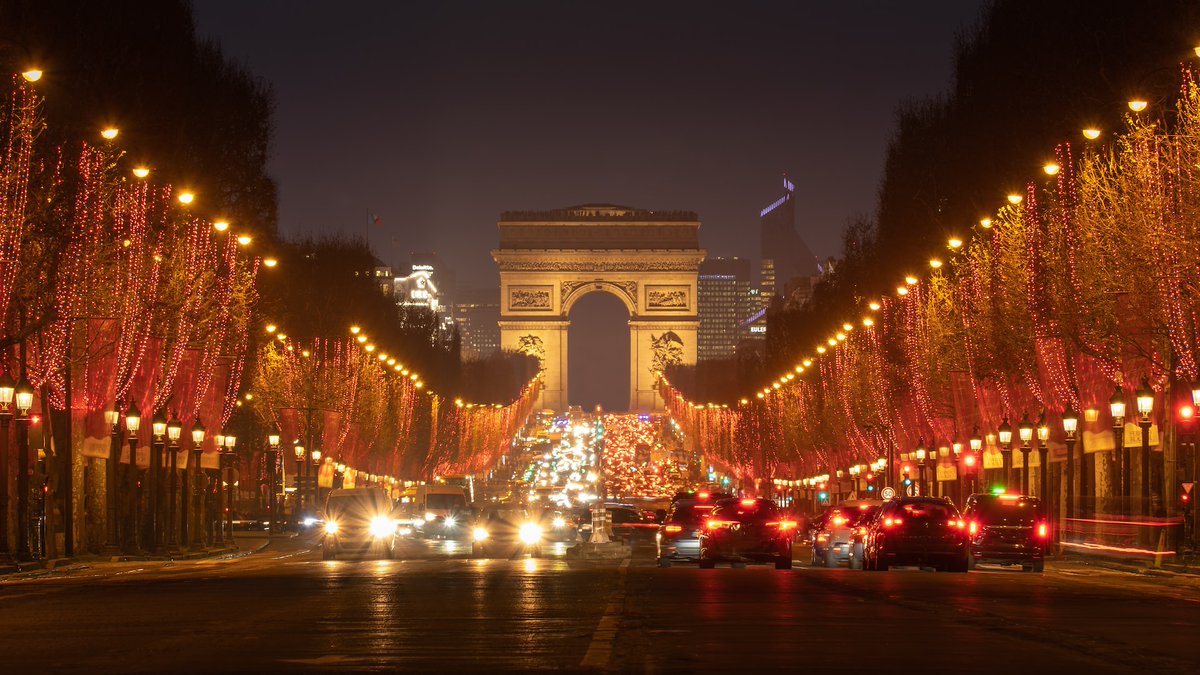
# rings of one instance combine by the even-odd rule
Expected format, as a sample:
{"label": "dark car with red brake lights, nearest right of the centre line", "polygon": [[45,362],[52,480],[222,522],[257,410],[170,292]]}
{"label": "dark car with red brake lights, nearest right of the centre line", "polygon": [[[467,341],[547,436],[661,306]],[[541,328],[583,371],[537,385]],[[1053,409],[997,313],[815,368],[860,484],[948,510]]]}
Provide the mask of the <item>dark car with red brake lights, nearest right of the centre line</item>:
{"label": "dark car with red brake lights, nearest right of the centre line", "polygon": [[773,562],[775,569],[791,569],[794,533],[796,521],[770,500],[719,500],[700,532],[700,567]]}

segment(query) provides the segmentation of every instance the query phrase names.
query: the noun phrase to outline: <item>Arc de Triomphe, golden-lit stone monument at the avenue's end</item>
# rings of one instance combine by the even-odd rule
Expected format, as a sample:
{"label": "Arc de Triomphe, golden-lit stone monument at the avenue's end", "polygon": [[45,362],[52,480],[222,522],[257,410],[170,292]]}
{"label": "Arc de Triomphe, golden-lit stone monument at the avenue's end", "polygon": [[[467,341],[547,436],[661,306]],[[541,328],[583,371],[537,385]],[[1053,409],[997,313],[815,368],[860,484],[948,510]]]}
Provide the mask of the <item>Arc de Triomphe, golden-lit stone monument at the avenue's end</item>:
{"label": "Arc de Triomphe, golden-lit stone monument at the avenue's end", "polygon": [[566,410],[571,307],[600,292],[629,310],[629,410],[661,410],[654,374],[696,363],[696,276],[704,259],[696,214],[582,204],[506,211],[498,226],[500,347],[541,359],[538,405]]}

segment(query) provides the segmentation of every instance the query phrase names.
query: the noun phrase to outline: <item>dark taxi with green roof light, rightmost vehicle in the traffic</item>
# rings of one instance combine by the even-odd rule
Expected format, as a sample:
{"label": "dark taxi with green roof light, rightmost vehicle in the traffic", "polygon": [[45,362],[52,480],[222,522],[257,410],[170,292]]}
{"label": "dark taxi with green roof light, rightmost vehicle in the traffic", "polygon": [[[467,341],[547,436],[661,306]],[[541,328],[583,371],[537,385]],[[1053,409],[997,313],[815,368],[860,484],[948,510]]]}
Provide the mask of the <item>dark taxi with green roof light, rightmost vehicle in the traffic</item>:
{"label": "dark taxi with green roof light, rightmost vehicle in the traffic", "polygon": [[962,519],[971,542],[971,569],[983,563],[1020,565],[1026,572],[1045,569],[1050,528],[1042,502],[1027,495],[971,495]]}

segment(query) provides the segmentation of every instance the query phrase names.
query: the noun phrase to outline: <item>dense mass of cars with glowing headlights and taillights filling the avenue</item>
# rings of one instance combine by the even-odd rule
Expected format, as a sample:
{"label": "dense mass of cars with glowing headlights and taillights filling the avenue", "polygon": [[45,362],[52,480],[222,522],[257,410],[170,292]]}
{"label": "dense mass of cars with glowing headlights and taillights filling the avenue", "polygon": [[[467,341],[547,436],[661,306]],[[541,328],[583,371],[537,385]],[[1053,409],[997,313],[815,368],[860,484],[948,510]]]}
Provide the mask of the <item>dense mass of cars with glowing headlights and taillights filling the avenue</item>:
{"label": "dense mass of cars with glowing headlights and taillights filling the avenue", "polygon": [[[479,483],[442,477],[406,488],[398,500],[334,490],[324,514],[323,557],[391,557],[403,538],[462,542],[475,557],[541,556],[547,546],[562,552],[592,540],[602,504],[607,538],[653,546],[660,567],[791,569],[794,558],[808,556],[814,567],[871,572],[962,573],[979,565],[1044,569],[1050,533],[1036,497],[976,494],[962,510],[947,497],[850,498],[818,514],[803,513],[786,502],[734,494],[728,480],[712,480],[718,478],[712,467],[690,477],[664,471],[670,462],[652,452],[655,430],[670,429],[661,422],[542,414],[503,466]],[[617,447],[618,440],[630,447]],[[634,478],[614,480],[622,472]],[[617,497],[605,498],[606,492]]]}

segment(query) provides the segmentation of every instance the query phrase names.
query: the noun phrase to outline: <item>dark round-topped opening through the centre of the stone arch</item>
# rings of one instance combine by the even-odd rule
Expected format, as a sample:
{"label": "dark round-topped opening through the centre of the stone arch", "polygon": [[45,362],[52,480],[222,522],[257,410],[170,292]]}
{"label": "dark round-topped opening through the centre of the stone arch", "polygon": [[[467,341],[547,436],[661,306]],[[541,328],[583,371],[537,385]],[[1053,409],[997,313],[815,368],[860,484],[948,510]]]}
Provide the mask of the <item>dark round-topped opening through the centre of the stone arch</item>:
{"label": "dark round-topped opening through the centre of the stone arch", "polygon": [[629,309],[607,291],[592,291],[571,305],[568,330],[568,401],[584,411],[596,405],[626,412],[630,404]]}

